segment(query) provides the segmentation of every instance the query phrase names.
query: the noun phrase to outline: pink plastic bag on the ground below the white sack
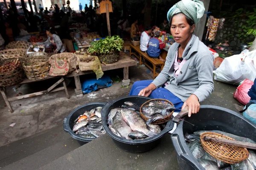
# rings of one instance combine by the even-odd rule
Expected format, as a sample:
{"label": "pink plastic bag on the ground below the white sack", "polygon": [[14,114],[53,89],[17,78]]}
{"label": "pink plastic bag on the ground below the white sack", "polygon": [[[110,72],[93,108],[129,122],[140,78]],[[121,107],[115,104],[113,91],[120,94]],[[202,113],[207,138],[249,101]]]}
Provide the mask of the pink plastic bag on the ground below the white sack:
{"label": "pink plastic bag on the ground below the white sack", "polygon": [[245,79],[241,85],[236,88],[234,93],[235,99],[237,99],[241,104],[246,105],[250,101],[250,96],[248,96],[248,91],[252,87],[253,81]]}

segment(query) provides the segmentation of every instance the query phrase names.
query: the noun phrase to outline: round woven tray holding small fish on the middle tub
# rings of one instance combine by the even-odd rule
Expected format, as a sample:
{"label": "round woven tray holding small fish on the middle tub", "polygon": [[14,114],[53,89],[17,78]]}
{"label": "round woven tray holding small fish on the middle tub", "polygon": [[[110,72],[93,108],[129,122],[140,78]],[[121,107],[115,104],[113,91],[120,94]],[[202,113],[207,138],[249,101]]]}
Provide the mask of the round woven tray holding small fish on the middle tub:
{"label": "round woven tray holding small fish on the middle tub", "polygon": [[[156,101],[156,102],[159,102],[159,103],[168,103],[172,106],[174,106],[172,104],[172,102],[170,102],[169,100],[166,100],[166,99],[151,99],[151,100],[148,100],[147,102],[143,103],[143,105],[141,105],[140,107],[140,115],[141,117],[145,120],[145,121],[148,121],[148,117],[144,116],[143,112],[141,111],[142,110],[142,107],[144,106],[148,106],[150,102],[152,101]],[[165,116],[163,119],[159,119],[159,120],[156,120],[154,122],[151,122],[151,124],[161,124],[161,123],[165,123],[165,122],[168,122],[171,118],[172,118],[172,114],[173,114],[174,111],[172,111],[169,115]]]}

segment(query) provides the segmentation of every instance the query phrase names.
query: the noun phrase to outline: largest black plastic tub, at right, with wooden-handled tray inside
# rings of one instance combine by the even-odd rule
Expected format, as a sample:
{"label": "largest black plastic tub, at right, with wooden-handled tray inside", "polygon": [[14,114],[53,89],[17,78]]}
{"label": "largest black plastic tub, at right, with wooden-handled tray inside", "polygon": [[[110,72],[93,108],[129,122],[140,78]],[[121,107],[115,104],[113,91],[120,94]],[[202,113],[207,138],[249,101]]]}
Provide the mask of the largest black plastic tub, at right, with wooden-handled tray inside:
{"label": "largest black plastic tub, at right, with wooden-handled tray inside", "polygon": [[172,133],[172,143],[177,153],[180,170],[204,170],[186,145],[184,134],[197,130],[221,130],[256,141],[256,125],[239,113],[218,106],[202,105],[197,114],[184,118]]}

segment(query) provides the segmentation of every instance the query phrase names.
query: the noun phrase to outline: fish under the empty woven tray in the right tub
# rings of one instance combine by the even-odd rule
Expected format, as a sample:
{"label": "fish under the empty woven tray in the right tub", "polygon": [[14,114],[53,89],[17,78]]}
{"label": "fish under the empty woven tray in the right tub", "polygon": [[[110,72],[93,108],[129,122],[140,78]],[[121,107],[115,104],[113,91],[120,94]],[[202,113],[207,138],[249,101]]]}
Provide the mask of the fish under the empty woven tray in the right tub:
{"label": "fish under the empty woven tray in the right tub", "polygon": [[256,170],[256,152],[254,150],[247,149],[249,151],[249,157],[237,164],[227,164],[209,155],[200,142],[200,136],[205,132],[220,133],[237,141],[256,143],[251,139],[219,130],[198,130],[193,134],[185,133],[184,139],[189,150],[205,170]]}

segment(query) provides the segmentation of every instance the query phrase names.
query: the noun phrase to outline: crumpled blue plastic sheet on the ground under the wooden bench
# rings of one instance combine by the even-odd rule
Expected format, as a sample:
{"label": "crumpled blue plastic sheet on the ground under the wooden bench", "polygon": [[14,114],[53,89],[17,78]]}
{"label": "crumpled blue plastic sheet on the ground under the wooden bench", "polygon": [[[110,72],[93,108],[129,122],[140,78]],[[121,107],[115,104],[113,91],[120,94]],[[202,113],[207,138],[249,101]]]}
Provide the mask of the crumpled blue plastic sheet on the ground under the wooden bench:
{"label": "crumpled blue plastic sheet on the ground under the wooden bench", "polygon": [[112,85],[112,80],[109,76],[104,75],[102,78],[100,79],[86,79],[83,83],[82,83],[82,91],[83,94],[87,94],[90,93],[92,91],[96,91],[100,88],[107,88],[110,87]]}

